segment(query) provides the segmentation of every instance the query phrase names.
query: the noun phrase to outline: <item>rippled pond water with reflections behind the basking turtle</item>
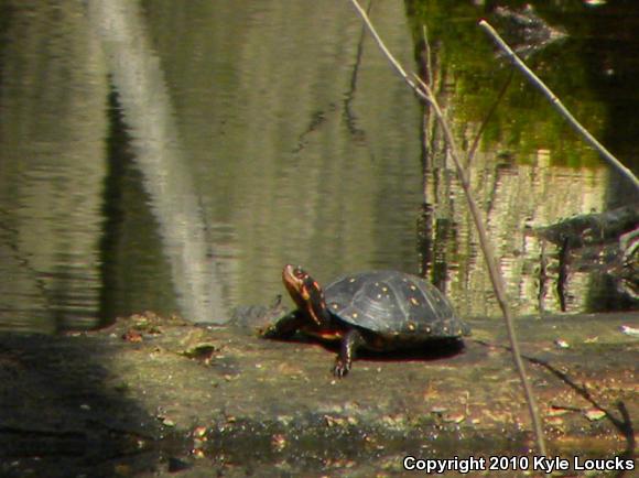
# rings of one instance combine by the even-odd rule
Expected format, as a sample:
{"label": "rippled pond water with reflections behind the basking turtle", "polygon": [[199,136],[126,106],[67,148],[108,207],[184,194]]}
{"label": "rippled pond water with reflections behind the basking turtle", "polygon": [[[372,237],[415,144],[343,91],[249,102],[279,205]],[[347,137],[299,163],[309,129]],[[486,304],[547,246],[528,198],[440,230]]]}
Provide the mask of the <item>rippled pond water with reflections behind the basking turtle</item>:
{"label": "rippled pond water with reflections behind the basking turtle", "polygon": [[[539,3],[565,36],[532,67],[637,171],[639,9]],[[348,1],[0,9],[0,327],[225,322],[282,294],[285,263],[321,283],[420,273],[462,315],[498,315],[441,133]],[[370,15],[409,70],[427,25],[467,149],[510,74],[476,24],[491,9],[371,1]],[[565,250],[531,231],[637,210],[638,193],[518,74],[481,138],[470,183],[515,313],[636,308],[618,238]]]}

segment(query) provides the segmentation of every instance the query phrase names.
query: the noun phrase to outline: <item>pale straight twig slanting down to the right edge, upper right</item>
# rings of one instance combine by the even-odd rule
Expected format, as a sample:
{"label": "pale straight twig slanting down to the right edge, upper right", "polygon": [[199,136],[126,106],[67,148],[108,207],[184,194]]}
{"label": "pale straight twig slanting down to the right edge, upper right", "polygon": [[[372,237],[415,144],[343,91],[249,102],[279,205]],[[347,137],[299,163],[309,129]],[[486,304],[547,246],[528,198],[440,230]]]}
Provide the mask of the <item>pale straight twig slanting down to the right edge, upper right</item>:
{"label": "pale straight twig slanting down to the right edge, upper right", "polygon": [[481,26],[486,32],[492,37],[495,43],[503,50],[506,56],[510,59],[510,62],[517,66],[523,75],[537,87],[541,90],[543,96],[545,96],[550,104],[563,116],[570,126],[584,139],[587,143],[589,143],[595,150],[599,152],[599,154],[610,163],[620,174],[626,176],[633,185],[635,188],[639,191],[639,180],[637,176],[632,174],[632,172],[626,167],[617,157],[613,155],[602,143],[597,141],[597,139],[589,133],[587,129],[585,129],[582,123],[580,123],[576,118],[568,111],[568,109],[561,102],[561,100],[552,93],[552,90],[545,86],[545,84],[528,67],[526,63],[508,46],[508,44],[499,36],[499,33],[495,31],[495,29],[488,23],[486,20],[481,20],[479,22],[479,26]]}

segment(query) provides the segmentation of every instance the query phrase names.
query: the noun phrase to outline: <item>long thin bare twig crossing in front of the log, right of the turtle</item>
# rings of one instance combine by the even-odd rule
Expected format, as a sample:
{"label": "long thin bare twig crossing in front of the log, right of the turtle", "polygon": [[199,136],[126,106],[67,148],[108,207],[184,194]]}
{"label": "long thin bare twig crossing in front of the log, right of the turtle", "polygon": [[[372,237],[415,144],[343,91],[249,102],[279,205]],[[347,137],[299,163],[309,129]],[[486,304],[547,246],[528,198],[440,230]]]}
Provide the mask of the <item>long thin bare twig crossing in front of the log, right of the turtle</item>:
{"label": "long thin bare twig crossing in front of the log, right of the turtle", "polygon": [[366,12],[359,6],[357,0],[350,0],[350,1],[354,4],[354,7],[357,9],[357,11],[359,12],[359,15],[362,18],[364,22],[368,26],[370,33],[375,37],[380,50],[387,56],[387,58],[389,59],[391,65],[398,70],[398,73],[404,78],[404,80],[413,88],[413,90],[421,98],[426,100],[432,106],[433,110],[435,111],[435,116],[437,117],[440,124],[442,126],[442,129],[444,131],[444,137],[446,139],[446,143],[448,144],[448,148],[450,148],[451,157],[453,159],[453,162],[455,163],[455,169],[457,171],[457,176],[459,178],[459,183],[462,184],[462,187],[464,189],[466,200],[468,203],[468,208],[470,209],[470,215],[473,216],[475,227],[477,228],[477,233],[479,237],[479,246],[481,248],[481,251],[484,253],[484,259],[486,260],[486,264],[488,267],[488,272],[490,275],[490,281],[492,283],[492,289],[495,290],[495,294],[497,296],[497,302],[499,303],[499,307],[501,308],[501,313],[503,314],[503,318],[506,322],[506,328],[508,330],[508,338],[510,340],[510,347],[512,349],[512,356],[515,359],[517,371],[519,373],[519,378],[521,380],[521,384],[523,387],[523,392],[524,392],[526,400],[528,403],[528,408],[529,408],[529,412],[530,412],[530,416],[531,416],[531,421],[532,421],[532,425],[533,425],[534,435],[537,438],[537,445],[539,448],[539,453],[541,455],[545,456],[546,450],[545,450],[545,442],[544,442],[544,437],[543,437],[543,428],[542,428],[541,420],[539,417],[539,413],[537,410],[537,403],[534,400],[534,395],[532,393],[532,389],[531,389],[530,383],[528,381],[528,377],[526,376],[526,369],[523,368],[523,361],[521,360],[521,354],[519,352],[519,343],[517,341],[517,336],[515,333],[515,326],[512,324],[510,309],[509,309],[508,304],[506,302],[506,292],[505,292],[506,287],[503,284],[503,278],[501,276],[501,273],[497,267],[497,262],[495,261],[495,254],[492,253],[492,247],[490,245],[490,241],[488,240],[486,229],[484,228],[484,225],[483,225],[483,218],[481,218],[481,214],[479,213],[479,207],[477,206],[477,203],[475,203],[475,199],[473,198],[473,195],[470,194],[470,184],[468,182],[468,177],[466,175],[466,172],[464,171],[464,167],[462,166],[462,162],[459,160],[461,156],[459,156],[459,153],[457,151],[457,145],[455,143],[453,132],[448,126],[448,122],[446,121],[446,119],[444,117],[444,113],[442,112],[442,109],[440,108],[437,99],[435,98],[435,96],[431,91],[430,86],[426,85],[424,82],[422,82],[419,77],[416,77],[416,75],[414,75],[414,78],[416,79],[416,82],[420,85],[419,87],[415,86],[414,82],[412,82],[411,78],[409,78],[409,76],[405,74],[405,70],[402,68],[402,66],[399,64],[399,62],[388,51],[388,48],[386,47],[386,45],[383,44],[383,42],[381,41],[381,39],[377,34],[375,26],[372,25],[372,23],[370,22],[370,20],[366,15]]}

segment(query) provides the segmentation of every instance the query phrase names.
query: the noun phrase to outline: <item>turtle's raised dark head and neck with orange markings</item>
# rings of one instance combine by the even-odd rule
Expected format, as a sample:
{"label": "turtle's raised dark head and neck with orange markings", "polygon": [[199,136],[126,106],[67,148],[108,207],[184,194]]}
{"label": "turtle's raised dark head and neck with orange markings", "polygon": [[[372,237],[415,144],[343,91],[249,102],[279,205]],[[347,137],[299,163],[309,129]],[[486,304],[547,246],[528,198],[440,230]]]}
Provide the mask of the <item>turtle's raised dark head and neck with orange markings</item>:
{"label": "turtle's raised dark head and neck with orange markings", "polygon": [[316,327],[327,327],[331,314],[326,311],[324,291],[320,284],[300,265],[290,264],[282,271],[282,281],[300,312]]}

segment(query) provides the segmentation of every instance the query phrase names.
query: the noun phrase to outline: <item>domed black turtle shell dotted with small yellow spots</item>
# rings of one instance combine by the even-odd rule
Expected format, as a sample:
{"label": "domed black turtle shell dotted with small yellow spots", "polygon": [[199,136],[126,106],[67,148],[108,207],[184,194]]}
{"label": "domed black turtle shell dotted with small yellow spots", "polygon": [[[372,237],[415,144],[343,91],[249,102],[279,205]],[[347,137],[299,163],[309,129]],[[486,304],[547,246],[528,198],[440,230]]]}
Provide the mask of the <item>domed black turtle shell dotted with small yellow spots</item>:
{"label": "domed black turtle shell dotted with small yellow spots", "polygon": [[344,275],[325,290],[328,311],[344,323],[394,341],[458,338],[470,328],[430,282],[398,271]]}

